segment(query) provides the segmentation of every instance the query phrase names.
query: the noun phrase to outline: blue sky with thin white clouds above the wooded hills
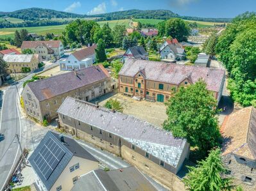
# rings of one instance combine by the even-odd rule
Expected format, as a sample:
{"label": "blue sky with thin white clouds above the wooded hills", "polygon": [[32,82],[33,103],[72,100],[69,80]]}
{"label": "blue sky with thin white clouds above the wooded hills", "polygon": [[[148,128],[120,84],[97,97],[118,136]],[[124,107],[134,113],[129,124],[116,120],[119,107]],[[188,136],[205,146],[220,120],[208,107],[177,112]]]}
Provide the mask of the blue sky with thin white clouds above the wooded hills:
{"label": "blue sky with thin white clouds above the wooded hills", "polygon": [[256,11],[255,0],[12,0],[2,1],[0,11],[22,8],[50,8],[81,14],[105,13],[118,10],[171,10],[180,15],[231,18],[245,11]]}

